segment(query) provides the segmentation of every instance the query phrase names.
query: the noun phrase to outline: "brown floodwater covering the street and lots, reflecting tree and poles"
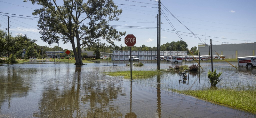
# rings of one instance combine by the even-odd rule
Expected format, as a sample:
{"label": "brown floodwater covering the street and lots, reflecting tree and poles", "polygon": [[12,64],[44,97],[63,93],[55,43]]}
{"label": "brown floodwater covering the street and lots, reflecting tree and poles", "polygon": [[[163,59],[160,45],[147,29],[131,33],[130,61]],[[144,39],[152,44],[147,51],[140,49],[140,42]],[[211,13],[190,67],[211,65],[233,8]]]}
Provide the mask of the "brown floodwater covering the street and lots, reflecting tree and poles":
{"label": "brown floodwater covering the street and lots, reflecting tree and poles", "polygon": [[[169,91],[209,88],[211,63],[203,71],[189,73],[180,83],[178,73],[134,79],[104,72],[130,70],[128,61],[99,61],[83,66],[52,62],[0,65],[0,118],[254,118],[256,114]],[[133,62],[138,63],[138,62]],[[132,70],[156,70],[156,61],[141,61]],[[182,63],[192,65],[193,63]],[[217,87],[255,85],[256,69],[237,70],[228,63],[213,63],[222,71]],[[237,63],[232,63],[237,66]],[[161,69],[175,64],[161,63]]]}

